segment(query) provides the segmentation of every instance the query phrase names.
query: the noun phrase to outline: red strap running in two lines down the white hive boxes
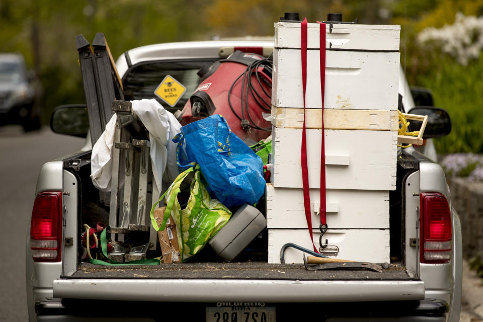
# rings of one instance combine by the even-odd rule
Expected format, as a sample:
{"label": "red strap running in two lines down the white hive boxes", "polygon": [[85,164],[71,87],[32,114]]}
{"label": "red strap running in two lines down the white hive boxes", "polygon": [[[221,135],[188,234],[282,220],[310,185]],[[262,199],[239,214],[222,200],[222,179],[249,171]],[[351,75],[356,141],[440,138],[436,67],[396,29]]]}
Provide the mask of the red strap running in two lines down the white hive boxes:
{"label": "red strap running in two lines down the white hive boxes", "polygon": [[[324,144],[324,90],[325,90],[325,68],[326,68],[326,24],[319,23],[320,26],[320,88],[322,95],[322,144],[320,156],[320,230],[323,226],[327,229],[326,219],[326,168],[325,168],[325,144]],[[303,205],[305,209],[305,219],[309,228],[310,239],[312,240],[313,250],[318,253],[312,236],[312,214],[310,209],[310,190],[308,184],[307,166],[307,139],[305,135],[305,93],[307,87],[307,19],[303,19],[300,28],[301,35],[301,63],[302,63],[302,90],[303,90],[303,127],[302,127],[302,148],[301,148],[301,168],[303,186]],[[321,236],[320,236],[321,237]]]}

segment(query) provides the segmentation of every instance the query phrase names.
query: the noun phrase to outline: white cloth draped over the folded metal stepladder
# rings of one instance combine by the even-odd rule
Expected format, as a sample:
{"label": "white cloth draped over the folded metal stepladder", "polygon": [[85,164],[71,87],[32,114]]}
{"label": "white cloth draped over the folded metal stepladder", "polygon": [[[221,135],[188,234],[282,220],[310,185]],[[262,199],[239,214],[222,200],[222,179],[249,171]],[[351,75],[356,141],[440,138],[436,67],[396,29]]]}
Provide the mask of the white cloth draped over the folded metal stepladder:
{"label": "white cloth draped over the folded metal stepladder", "polygon": [[[172,139],[181,132],[181,124],[154,99],[131,103],[134,113],[149,131],[152,173],[158,191],[162,191],[162,180],[171,184],[179,174],[176,143]],[[92,149],[91,179],[94,186],[101,191],[111,191],[111,159],[116,120],[114,115]]]}

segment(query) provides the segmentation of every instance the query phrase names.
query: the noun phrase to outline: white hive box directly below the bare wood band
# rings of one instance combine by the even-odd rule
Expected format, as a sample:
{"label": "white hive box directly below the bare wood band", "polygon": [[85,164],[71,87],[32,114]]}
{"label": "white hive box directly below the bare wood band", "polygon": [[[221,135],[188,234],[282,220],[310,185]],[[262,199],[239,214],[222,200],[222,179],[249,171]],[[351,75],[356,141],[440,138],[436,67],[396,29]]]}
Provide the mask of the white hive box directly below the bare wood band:
{"label": "white hive box directly below the bare wood band", "polygon": [[[306,129],[309,187],[320,188],[321,130]],[[302,129],[272,128],[274,187],[302,188]],[[327,189],[395,190],[397,132],[325,130],[325,154],[350,158],[349,166],[326,164]]]}

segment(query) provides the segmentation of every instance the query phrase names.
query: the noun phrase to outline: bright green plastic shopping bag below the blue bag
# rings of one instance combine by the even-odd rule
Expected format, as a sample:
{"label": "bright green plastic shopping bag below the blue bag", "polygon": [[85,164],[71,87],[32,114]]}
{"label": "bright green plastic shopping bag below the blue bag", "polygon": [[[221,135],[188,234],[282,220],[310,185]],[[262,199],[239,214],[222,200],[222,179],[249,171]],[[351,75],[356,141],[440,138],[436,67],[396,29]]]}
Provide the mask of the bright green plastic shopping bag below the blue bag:
{"label": "bright green plastic shopping bag below the blue bag", "polygon": [[[154,209],[166,196],[166,211],[163,222],[157,225]],[[187,205],[181,209],[180,201]],[[201,251],[231,217],[231,211],[221,202],[211,199],[201,182],[200,169],[196,165],[181,173],[159,201],[151,208],[151,224],[156,231],[164,230],[170,214],[176,224],[181,260],[185,262]]]}

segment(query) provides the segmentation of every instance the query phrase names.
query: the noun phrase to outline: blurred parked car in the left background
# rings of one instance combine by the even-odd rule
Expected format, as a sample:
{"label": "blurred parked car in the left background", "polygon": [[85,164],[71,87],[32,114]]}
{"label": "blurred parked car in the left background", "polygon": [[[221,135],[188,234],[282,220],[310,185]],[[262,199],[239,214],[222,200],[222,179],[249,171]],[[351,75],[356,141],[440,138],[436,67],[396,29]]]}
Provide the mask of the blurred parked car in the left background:
{"label": "blurred parked car in the left background", "polygon": [[21,124],[25,131],[41,126],[38,100],[42,89],[21,54],[0,54],[0,125]]}

